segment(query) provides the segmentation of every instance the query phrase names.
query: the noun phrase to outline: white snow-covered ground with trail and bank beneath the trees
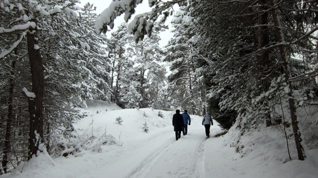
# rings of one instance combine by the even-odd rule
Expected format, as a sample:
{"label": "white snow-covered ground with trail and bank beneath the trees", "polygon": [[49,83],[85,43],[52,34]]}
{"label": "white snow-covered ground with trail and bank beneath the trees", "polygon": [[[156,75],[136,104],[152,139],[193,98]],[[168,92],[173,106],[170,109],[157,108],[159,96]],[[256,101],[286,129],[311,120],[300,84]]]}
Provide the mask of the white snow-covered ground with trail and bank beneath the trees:
{"label": "white snow-covered ground with trail and bank beneath the trees", "polygon": [[[285,138],[273,127],[247,132],[238,144],[244,146],[231,147],[237,130],[206,139],[202,117],[190,115],[188,134],[176,141],[173,111],[162,111],[162,118],[150,108],[88,105],[82,109],[87,116],[74,125],[77,137],[65,140],[78,142],[82,151],[54,159],[41,154],[0,177],[318,177],[318,149],[300,161],[290,141],[293,160],[287,161]],[[122,124],[115,123],[118,116]],[[214,120],[211,135],[221,132]]]}

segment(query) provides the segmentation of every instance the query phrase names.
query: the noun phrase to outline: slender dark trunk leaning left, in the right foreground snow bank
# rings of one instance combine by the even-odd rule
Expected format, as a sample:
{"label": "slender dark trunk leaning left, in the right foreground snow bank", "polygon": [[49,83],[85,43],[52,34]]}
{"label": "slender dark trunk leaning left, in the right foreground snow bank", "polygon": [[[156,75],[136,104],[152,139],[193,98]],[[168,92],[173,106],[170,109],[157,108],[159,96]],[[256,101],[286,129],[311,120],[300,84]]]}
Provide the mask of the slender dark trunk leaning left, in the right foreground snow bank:
{"label": "slender dark trunk leaning left, in the right foreground snow bank", "polygon": [[[270,7],[274,6],[274,0],[269,0],[269,5]],[[276,33],[276,38],[278,42],[285,42],[284,40],[284,36],[283,36],[283,32],[279,21],[279,14],[277,13],[277,9],[276,7],[274,7],[271,10],[271,14],[273,17],[273,24],[275,26],[275,33]],[[287,85],[289,87],[289,91],[287,93],[288,95],[288,104],[289,104],[289,110],[290,110],[290,118],[291,118],[291,125],[292,125],[292,130],[294,132],[294,137],[295,137],[295,143],[296,143],[296,148],[297,148],[297,153],[298,153],[298,159],[299,160],[304,160],[304,152],[303,152],[303,147],[301,145],[301,137],[300,137],[300,131],[298,128],[298,121],[297,121],[297,115],[296,115],[296,107],[295,107],[295,102],[294,99],[292,97],[292,92],[293,92],[293,86],[292,83],[290,81],[288,81],[289,77],[290,77],[290,69],[289,69],[289,64],[288,64],[288,59],[286,56],[286,48],[283,45],[279,46],[279,53],[280,53],[280,57],[281,57],[281,62],[283,65],[283,69],[284,69],[284,76],[287,82]]]}

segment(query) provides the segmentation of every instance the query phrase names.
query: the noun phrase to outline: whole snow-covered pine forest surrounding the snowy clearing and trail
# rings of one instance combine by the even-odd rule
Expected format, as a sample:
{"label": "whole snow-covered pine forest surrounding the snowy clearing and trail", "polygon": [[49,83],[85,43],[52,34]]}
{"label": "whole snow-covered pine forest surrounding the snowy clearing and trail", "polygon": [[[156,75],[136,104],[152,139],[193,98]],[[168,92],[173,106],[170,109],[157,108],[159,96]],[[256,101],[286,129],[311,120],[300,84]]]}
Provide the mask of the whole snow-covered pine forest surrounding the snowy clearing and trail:
{"label": "whole snow-covered pine forest surrounding the snowy clearing and trail", "polygon": [[[242,135],[261,124],[290,127],[284,133],[300,160],[304,147],[317,148],[316,132],[301,133],[316,130],[318,118],[297,115],[312,115],[318,104],[316,0],[149,0],[151,13],[109,38],[100,34],[113,26],[111,15],[128,20],[139,2],[113,3],[117,11],[105,17],[77,0],[1,0],[1,173],[71,137],[83,117],[76,107],[97,99],[210,111],[224,129],[236,122]],[[161,48],[169,15],[174,37]]]}

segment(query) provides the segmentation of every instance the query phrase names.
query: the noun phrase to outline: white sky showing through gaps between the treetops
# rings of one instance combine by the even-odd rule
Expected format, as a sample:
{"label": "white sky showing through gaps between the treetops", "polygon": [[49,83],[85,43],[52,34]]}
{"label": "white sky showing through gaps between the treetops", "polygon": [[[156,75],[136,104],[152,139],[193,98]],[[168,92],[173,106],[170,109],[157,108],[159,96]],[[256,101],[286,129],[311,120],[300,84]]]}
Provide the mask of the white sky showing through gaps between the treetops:
{"label": "white sky showing through gaps between the treetops", "polygon": [[[80,1],[82,2],[81,6],[84,6],[84,4],[86,4],[87,2],[93,3],[94,6],[96,6],[96,13],[101,13],[104,9],[106,9],[109,6],[109,4],[111,3],[112,0],[80,0]],[[135,12],[135,14],[132,15],[131,19],[133,19],[134,15],[136,15],[136,14],[148,12],[148,11],[151,11],[151,7],[149,7],[149,5],[148,5],[148,0],[143,0],[143,2],[141,4],[137,5],[136,12]],[[166,24],[169,24],[171,22],[171,20],[172,20],[172,17],[170,17],[170,18],[168,17]],[[109,34],[112,31],[115,31],[117,29],[117,26],[122,22],[124,22],[123,15],[118,16],[114,21],[114,23],[115,23],[114,28],[110,32],[107,32],[106,35],[109,36]],[[170,28],[171,28],[171,26],[170,26]],[[159,43],[160,43],[161,47],[166,45],[168,43],[169,39],[172,37],[172,33],[170,32],[170,30],[171,29],[168,29],[168,30],[160,33],[162,39],[159,41]]]}

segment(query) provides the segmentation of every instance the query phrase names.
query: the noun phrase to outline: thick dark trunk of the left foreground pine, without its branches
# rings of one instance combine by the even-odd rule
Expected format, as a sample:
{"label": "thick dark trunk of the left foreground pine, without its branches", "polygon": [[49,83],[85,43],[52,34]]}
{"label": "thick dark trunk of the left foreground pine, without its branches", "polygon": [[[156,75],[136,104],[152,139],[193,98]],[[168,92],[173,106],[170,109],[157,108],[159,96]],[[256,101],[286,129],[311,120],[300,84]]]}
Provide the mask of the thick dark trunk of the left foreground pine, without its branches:
{"label": "thick dark trunk of the left foreground pine, without its branches", "polygon": [[[32,31],[33,29],[30,29]],[[40,49],[35,49],[37,45],[36,31],[28,32],[28,54],[32,75],[32,91],[35,98],[28,98],[30,113],[30,133],[29,133],[29,155],[28,159],[39,150],[43,151],[39,145],[44,142],[43,137],[43,98],[44,98],[44,72],[43,61]]]}

